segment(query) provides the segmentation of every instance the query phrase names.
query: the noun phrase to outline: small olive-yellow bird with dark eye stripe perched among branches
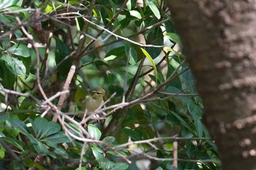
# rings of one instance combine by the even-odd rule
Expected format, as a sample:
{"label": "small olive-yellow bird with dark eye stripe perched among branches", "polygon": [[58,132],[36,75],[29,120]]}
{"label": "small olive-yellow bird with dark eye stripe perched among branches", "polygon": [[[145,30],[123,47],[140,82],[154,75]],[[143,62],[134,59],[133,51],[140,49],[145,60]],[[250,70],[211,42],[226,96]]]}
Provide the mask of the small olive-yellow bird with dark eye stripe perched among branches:
{"label": "small olive-yellow bird with dark eye stripe perched among branches", "polygon": [[[103,96],[105,96],[105,90],[103,88],[94,88],[84,100],[82,101],[82,109],[87,112],[94,112],[98,107],[104,103]],[[82,117],[83,114],[80,115]]]}

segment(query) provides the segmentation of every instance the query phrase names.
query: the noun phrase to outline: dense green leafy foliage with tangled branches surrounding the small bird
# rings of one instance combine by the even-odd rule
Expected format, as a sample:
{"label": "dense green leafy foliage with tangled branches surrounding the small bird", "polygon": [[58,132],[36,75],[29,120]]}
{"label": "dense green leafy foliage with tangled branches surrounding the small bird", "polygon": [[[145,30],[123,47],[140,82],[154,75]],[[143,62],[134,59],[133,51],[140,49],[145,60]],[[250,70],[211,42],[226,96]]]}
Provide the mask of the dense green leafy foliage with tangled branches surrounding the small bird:
{"label": "dense green leafy foliage with tangled branches surrounding the small bird", "polygon": [[[1,1],[0,166],[219,169],[170,13],[151,0]],[[95,87],[105,107],[80,120]]]}

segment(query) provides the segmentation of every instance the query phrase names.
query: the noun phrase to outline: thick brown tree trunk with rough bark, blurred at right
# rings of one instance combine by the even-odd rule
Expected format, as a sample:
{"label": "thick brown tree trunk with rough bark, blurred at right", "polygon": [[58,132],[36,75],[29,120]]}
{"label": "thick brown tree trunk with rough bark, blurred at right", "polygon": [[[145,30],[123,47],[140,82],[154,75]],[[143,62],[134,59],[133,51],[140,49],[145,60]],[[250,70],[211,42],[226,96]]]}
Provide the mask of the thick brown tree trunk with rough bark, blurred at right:
{"label": "thick brown tree trunk with rough bark, blurred at right", "polygon": [[256,1],[167,2],[222,169],[256,169]]}

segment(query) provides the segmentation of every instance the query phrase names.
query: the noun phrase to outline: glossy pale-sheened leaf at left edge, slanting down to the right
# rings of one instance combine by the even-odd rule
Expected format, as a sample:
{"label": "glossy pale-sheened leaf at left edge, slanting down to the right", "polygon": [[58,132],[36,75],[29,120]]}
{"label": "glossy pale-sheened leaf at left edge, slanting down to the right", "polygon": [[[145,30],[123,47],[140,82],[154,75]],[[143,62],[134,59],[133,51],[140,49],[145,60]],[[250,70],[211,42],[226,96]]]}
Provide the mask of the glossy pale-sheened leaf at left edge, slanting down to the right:
{"label": "glossy pale-sheened leaf at left edge, slanting down to the right", "polygon": [[26,67],[23,62],[19,61],[17,58],[13,58],[10,55],[2,55],[1,60],[5,61],[5,66],[12,74],[18,77],[26,74]]}

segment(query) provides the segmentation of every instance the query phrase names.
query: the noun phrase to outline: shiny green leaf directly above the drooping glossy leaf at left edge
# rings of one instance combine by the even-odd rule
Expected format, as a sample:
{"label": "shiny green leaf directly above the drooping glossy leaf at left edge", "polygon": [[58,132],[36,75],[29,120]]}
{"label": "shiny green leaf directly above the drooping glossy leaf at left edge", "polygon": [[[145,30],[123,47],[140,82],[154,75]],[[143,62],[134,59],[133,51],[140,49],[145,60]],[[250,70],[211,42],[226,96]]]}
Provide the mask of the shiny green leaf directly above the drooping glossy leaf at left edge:
{"label": "shiny green leaf directly above the drooping glossy leaf at left edge", "polygon": [[12,45],[7,51],[13,55],[19,55],[21,57],[29,57],[30,56],[30,50],[26,45],[23,44],[16,44]]}

